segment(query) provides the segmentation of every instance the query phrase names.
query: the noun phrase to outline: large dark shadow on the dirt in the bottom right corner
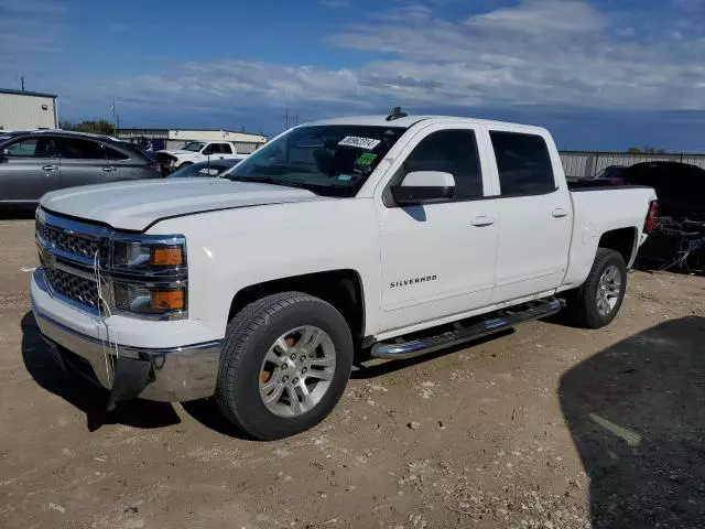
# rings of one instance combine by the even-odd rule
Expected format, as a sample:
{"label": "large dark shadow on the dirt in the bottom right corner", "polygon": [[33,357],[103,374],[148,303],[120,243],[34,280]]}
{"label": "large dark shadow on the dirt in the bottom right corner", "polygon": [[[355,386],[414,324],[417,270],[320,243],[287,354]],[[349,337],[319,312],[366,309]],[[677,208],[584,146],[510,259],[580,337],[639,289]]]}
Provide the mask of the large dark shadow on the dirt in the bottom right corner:
{"label": "large dark shadow on the dirt in the bottom right corner", "polygon": [[705,317],[641,332],[568,370],[561,407],[595,528],[705,525]]}

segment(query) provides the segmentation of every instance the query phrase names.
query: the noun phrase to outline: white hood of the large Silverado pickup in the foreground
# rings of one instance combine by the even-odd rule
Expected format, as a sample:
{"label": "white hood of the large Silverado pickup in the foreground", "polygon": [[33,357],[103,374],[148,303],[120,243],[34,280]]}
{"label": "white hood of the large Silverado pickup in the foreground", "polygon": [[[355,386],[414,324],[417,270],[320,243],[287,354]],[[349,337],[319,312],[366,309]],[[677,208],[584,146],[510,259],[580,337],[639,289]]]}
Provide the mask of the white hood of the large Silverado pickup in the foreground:
{"label": "white hood of the large Silverado pickup in the foreground", "polygon": [[307,190],[232,182],[173,179],[69,187],[45,194],[40,204],[54,213],[144,231],[165,217],[265,204],[326,199]]}

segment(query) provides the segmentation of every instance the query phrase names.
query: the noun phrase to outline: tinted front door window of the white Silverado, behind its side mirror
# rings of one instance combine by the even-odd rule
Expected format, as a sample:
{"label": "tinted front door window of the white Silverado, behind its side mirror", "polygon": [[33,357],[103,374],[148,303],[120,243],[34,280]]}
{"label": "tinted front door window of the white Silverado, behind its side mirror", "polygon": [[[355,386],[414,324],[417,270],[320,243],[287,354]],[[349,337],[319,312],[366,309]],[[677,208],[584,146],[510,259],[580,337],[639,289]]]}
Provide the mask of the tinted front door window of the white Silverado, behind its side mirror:
{"label": "tinted front door window of the white Silverado, behind its side mirror", "polygon": [[455,179],[454,199],[482,196],[482,173],[471,130],[440,130],[429,134],[402,165],[403,174],[413,171],[451,173]]}

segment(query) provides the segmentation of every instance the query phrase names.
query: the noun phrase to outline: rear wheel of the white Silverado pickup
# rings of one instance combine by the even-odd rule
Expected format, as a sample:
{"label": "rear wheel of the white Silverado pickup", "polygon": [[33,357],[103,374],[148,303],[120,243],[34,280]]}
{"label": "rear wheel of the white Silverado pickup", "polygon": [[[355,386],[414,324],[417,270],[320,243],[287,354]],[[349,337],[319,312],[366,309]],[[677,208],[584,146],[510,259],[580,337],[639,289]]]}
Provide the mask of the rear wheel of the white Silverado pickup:
{"label": "rear wheel of the white Silverado pickup", "polygon": [[585,282],[567,300],[572,323],[587,328],[608,325],[619,312],[627,290],[627,266],[621,255],[598,248]]}

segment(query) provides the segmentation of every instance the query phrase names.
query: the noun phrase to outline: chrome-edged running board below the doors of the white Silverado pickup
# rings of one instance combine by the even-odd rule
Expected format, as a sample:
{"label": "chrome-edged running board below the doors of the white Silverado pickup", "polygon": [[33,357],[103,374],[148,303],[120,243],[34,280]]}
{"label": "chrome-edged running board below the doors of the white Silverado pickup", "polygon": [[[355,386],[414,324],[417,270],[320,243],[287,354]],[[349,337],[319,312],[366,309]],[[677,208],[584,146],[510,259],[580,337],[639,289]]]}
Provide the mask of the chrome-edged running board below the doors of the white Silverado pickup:
{"label": "chrome-edged running board below the doors of the white Silverado pickup", "polygon": [[[541,301],[530,301],[494,313],[456,322],[448,331],[432,336],[419,337],[405,341],[403,337],[394,342],[378,342],[372,346],[370,354],[375,358],[413,358],[414,356],[433,353],[452,345],[462,344],[474,338],[480,338],[489,334],[507,331],[523,322],[550,316],[561,310],[561,302],[555,298]],[[465,323],[464,323],[465,322]],[[433,332],[433,330],[430,330]],[[414,333],[420,334],[420,333]]]}

